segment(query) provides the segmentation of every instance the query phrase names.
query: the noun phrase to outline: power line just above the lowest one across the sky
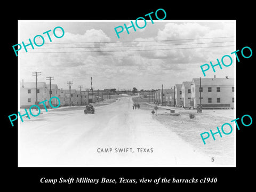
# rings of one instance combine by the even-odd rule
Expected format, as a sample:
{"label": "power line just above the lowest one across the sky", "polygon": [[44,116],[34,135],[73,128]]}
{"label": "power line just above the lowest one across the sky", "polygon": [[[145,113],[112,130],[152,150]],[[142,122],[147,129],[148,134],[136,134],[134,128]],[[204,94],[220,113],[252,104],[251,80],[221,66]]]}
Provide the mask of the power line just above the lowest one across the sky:
{"label": "power line just above the lowest one across the sky", "polygon": [[165,44],[165,45],[134,45],[134,46],[85,46],[85,47],[42,47],[37,49],[84,49],[84,48],[115,48],[115,47],[143,47],[143,46],[173,46],[173,45],[197,45],[211,43],[233,43],[234,41],[225,42],[206,42],[206,43],[181,43],[181,44]]}

